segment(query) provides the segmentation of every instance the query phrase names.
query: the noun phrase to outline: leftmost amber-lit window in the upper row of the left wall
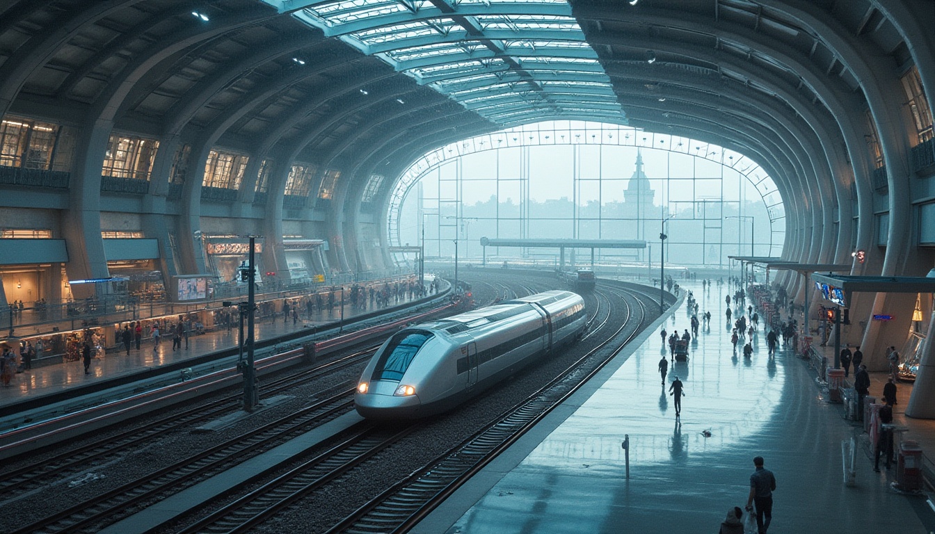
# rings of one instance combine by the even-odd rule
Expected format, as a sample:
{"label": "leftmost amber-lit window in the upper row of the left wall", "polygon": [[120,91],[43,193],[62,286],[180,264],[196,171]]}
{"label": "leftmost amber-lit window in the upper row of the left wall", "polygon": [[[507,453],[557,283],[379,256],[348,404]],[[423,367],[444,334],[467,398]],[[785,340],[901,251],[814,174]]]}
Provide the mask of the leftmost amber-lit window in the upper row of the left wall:
{"label": "leftmost amber-lit window in the upper row of the left wall", "polygon": [[49,170],[59,126],[26,119],[0,121],[0,165]]}

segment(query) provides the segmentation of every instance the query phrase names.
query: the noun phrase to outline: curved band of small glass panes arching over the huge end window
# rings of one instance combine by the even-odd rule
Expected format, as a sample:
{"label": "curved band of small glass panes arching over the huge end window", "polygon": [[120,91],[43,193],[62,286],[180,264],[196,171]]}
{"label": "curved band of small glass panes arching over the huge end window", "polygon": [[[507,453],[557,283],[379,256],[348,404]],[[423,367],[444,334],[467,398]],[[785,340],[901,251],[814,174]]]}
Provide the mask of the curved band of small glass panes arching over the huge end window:
{"label": "curved band of small glass panes arching over the huge end window", "polygon": [[[740,152],[689,137],[656,134],[608,123],[557,121],[515,126],[491,134],[470,137],[424,154],[396,180],[387,208],[387,230],[391,245],[398,245],[399,216],[406,196],[424,175],[435,168],[468,154],[514,147],[542,145],[615,145],[678,152],[730,167],[752,185],[770,218],[772,245],[781,247],[785,208],[770,175]],[[779,222],[779,224],[776,224]]]}

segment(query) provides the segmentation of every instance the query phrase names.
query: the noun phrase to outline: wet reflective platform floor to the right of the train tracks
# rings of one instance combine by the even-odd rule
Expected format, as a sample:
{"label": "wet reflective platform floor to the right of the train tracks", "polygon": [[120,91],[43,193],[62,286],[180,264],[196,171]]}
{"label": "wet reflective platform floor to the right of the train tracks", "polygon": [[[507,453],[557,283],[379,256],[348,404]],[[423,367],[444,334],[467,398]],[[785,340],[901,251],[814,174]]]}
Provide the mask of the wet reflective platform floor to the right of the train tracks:
{"label": "wet reflective platform floor to the right of the train tracks", "polygon": [[[926,498],[889,489],[895,468],[875,473],[858,450],[856,486],[844,485],[841,441],[859,441],[860,431],[821,396],[791,346],[770,357],[760,326],[752,357],[742,341],[734,354],[726,289],[689,287],[712,325],[665,383],[657,368],[669,349],[657,326],[560,426],[531,432],[525,451],[502,455],[412,532],[717,532],[729,508],[745,505],[762,455],[777,480],[770,533],[928,533],[935,513]],[[663,325],[690,328],[684,306]],[[669,396],[676,375],[679,418]]]}

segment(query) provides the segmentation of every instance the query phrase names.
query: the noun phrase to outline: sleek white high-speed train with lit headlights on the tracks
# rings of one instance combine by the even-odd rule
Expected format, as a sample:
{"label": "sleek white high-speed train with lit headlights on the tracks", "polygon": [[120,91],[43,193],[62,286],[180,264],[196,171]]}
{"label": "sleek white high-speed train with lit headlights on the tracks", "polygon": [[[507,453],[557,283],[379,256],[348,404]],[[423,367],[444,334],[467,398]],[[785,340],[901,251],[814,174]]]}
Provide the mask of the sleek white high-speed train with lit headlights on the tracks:
{"label": "sleek white high-speed train with lit headlights on the tracks", "polygon": [[367,364],[354,408],[372,419],[450,410],[578,339],[586,323],[581,296],[547,291],[404,328]]}

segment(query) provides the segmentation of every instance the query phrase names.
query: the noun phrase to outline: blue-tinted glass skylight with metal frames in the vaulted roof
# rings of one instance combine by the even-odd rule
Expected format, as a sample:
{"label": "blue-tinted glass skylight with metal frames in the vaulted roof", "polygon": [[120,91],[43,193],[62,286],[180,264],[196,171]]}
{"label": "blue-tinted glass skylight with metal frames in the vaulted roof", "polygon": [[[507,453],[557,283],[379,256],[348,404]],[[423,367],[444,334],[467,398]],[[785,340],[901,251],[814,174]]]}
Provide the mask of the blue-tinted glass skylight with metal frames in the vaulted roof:
{"label": "blue-tinted glass skylight with metal frames in the vaulted roof", "polygon": [[493,123],[626,123],[566,0],[338,0],[308,2],[294,16]]}

